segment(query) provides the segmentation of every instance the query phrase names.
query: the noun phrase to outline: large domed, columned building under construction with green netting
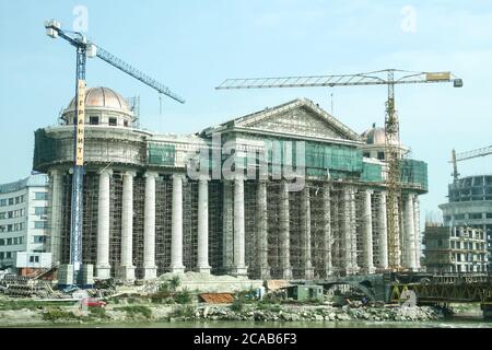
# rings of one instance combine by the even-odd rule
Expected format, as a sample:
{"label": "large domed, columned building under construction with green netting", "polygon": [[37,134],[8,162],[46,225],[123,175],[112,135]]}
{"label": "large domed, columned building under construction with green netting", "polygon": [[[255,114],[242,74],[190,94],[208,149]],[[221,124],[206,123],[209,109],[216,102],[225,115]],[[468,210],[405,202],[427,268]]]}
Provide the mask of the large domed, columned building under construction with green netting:
{"label": "large domed, columned building under construction with green netting", "polygon": [[[83,262],[97,278],[374,273],[388,269],[389,249],[401,269],[420,269],[426,164],[402,156],[391,247],[382,128],[359,135],[295,100],[169,136],[139,128],[133,104],[107,88],[90,89],[85,103]],[[34,170],[49,175],[49,245],[60,264],[70,258],[73,118],[74,101],[60,125],[35,132]]]}

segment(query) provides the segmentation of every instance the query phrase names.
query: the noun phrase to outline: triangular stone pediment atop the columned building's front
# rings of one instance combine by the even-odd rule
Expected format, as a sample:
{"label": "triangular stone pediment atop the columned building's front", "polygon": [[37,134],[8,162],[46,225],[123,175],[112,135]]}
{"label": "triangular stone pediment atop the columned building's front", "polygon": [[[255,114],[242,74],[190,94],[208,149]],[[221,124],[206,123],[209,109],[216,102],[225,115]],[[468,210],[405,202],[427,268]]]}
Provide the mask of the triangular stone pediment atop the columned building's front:
{"label": "triangular stone pediment atop the columned building's front", "polygon": [[235,128],[297,137],[361,141],[360,136],[308,100],[295,100],[234,120]]}

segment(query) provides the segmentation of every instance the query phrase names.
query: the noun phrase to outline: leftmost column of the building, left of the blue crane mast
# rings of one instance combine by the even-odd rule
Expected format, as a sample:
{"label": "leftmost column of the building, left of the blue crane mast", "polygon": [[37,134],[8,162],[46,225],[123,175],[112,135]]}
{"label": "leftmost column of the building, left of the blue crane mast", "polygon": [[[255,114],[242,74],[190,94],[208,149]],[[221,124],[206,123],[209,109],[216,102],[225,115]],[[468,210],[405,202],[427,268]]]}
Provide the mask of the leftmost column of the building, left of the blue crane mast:
{"label": "leftmost column of the building, left of the blue crane mast", "polygon": [[51,183],[50,188],[50,229],[51,229],[51,261],[52,264],[61,262],[61,207],[63,200],[62,173],[59,170],[49,172]]}

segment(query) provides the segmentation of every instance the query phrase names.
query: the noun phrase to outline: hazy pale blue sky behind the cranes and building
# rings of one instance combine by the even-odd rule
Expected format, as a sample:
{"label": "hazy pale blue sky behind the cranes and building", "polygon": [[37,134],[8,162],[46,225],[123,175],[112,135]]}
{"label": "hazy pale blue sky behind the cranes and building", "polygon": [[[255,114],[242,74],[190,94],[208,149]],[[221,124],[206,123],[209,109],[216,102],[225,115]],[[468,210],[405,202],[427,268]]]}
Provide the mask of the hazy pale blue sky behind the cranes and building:
{"label": "hazy pale blue sky behind the cranes and building", "polygon": [[[180,105],[98,59],[89,86],[140,95],[144,128],[190,133],[296,97],[308,97],[358,132],[383,125],[386,89],[215,91],[225,78],[336,74],[398,68],[453,71],[465,82],[400,85],[401,137],[429,163],[423,215],[446,201],[450,151],[492,144],[492,2],[483,1],[0,1],[0,183],[28,175],[34,130],[54,125],[74,94],[74,49],[45,35],[72,30],[87,9],[87,36],[186,97]],[[413,21],[414,20],[414,21]],[[492,173],[492,156],[460,164]]]}

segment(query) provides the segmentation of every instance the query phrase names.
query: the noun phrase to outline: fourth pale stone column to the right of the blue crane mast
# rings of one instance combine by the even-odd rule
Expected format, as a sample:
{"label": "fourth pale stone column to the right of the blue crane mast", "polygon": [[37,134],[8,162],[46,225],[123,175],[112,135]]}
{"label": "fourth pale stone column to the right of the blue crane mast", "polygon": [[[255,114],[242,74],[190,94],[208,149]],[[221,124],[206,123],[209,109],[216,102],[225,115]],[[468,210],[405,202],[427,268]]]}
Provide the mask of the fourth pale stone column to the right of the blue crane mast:
{"label": "fourth pale stone column to the right of the blue crane mast", "polygon": [[183,273],[183,175],[173,175],[173,214],[171,231],[171,272]]}

